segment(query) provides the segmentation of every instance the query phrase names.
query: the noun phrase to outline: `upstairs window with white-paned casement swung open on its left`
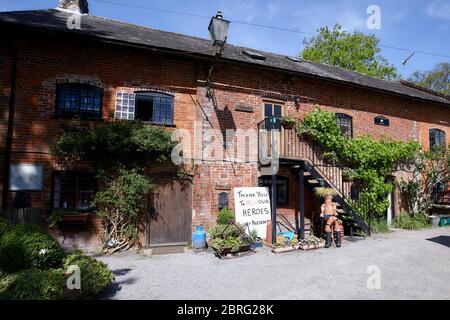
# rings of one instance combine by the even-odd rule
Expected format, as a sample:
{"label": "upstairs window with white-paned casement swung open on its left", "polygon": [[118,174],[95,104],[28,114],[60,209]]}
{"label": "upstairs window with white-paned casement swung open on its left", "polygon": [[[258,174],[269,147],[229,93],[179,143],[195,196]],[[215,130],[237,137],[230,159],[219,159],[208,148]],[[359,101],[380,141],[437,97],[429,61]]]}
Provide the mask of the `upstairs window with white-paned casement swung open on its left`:
{"label": "upstairs window with white-paned casement swung open on its left", "polygon": [[116,119],[141,120],[155,124],[173,124],[174,98],[156,92],[118,92]]}

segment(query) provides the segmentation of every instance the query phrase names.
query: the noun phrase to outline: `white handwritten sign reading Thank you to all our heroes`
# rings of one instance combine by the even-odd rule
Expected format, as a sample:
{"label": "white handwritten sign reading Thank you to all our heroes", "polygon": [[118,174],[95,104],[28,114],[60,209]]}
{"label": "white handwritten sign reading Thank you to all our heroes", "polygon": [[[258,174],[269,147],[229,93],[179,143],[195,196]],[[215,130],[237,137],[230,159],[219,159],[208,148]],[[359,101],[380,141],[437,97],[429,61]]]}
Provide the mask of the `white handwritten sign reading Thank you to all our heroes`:
{"label": "white handwritten sign reading Thank you to all our heroes", "polygon": [[234,209],[236,222],[266,239],[267,221],[271,220],[269,188],[234,188]]}

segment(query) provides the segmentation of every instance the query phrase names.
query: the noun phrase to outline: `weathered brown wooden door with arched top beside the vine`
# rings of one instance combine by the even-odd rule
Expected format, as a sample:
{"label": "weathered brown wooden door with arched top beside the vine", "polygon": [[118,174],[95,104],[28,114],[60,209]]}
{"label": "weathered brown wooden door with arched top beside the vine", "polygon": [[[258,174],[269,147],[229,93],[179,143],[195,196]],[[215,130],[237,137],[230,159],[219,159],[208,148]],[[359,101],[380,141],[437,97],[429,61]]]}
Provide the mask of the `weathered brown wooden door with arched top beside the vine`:
{"label": "weathered brown wooden door with arched top beside the vine", "polygon": [[147,224],[147,246],[186,245],[191,241],[192,183],[175,181],[153,194]]}

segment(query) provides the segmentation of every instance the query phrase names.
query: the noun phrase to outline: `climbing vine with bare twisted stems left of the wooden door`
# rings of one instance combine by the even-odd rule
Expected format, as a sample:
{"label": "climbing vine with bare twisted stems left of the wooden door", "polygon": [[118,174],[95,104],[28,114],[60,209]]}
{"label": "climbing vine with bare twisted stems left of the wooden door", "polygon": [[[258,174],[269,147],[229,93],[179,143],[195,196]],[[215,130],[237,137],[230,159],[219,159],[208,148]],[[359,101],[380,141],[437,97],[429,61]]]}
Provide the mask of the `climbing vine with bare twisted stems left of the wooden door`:
{"label": "climbing vine with bare twisted stems left of the wooden door", "polygon": [[[175,144],[164,128],[116,121],[64,132],[51,147],[60,164],[90,163],[97,171],[102,188],[92,205],[104,221],[105,253],[136,242],[148,195],[157,186],[148,169],[169,160]],[[174,169],[176,176],[181,168]]]}

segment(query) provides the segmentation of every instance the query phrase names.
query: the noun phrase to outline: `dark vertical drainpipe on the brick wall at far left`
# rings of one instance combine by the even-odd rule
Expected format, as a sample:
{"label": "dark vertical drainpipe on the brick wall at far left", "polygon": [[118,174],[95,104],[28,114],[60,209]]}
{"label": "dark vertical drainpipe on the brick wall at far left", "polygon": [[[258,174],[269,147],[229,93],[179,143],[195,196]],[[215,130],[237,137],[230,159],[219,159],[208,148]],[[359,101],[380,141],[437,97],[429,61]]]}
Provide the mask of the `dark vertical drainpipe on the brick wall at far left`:
{"label": "dark vertical drainpipe on the brick wall at far left", "polygon": [[17,55],[14,49],[6,46],[7,54],[11,56],[11,80],[8,104],[8,130],[6,133],[6,146],[5,146],[5,161],[3,172],[3,194],[2,194],[2,209],[6,211],[8,208],[8,192],[9,192],[9,179],[10,179],[10,164],[11,164],[11,150],[13,144],[14,133],[14,102],[16,96],[16,78],[17,78]]}

